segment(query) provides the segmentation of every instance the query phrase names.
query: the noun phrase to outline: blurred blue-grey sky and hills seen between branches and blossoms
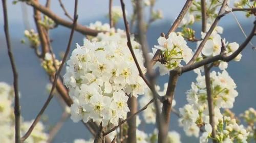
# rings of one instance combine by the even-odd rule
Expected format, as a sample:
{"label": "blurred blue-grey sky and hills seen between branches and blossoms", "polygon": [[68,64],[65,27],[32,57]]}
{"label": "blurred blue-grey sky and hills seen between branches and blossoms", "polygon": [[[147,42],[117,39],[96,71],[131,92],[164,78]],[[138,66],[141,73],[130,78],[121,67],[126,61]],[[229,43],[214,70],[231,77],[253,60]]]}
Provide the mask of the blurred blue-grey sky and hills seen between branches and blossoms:
{"label": "blurred blue-grey sky and hills seen between branches and blossoms", "polygon": [[[69,13],[73,16],[74,2],[63,0],[63,4]],[[119,6],[120,2],[117,0],[113,1],[114,6]],[[46,1],[40,1],[42,5],[45,5]],[[97,20],[102,21],[102,23],[108,22],[108,3],[109,1],[102,0],[82,0],[78,3],[78,23],[83,25],[89,25],[91,22]],[[125,1],[126,10],[128,15],[132,13],[132,5],[130,1]],[[156,2],[155,9],[160,9],[163,12],[163,19],[154,22],[147,33],[148,43],[150,47],[153,47],[157,44],[157,39],[160,36],[160,33],[166,33],[169,27],[172,25],[174,19],[178,16],[180,10],[182,9],[185,1],[163,1],[158,0]],[[232,1],[230,7],[232,7]],[[11,36],[11,45],[13,48],[13,54],[15,57],[15,62],[19,74],[19,91],[21,93],[20,105],[21,112],[24,120],[30,121],[34,119],[39,112],[42,105],[45,103],[48,93],[46,91],[46,85],[49,83],[49,77],[45,71],[40,66],[40,61],[34,54],[33,49],[29,47],[28,44],[22,44],[20,40],[24,38],[24,31],[26,29],[33,28],[35,29],[34,20],[33,20],[33,11],[30,6],[26,6],[23,3],[17,3],[16,5],[12,4],[12,1],[8,1],[8,16],[9,16],[9,28]],[[57,15],[61,16],[68,20],[64,15],[61,7],[59,6],[58,1],[52,1],[51,10],[54,11]],[[27,11],[27,12],[26,12]],[[26,13],[24,13],[26,12]],[[144,14],[149,13],[148,9],[145,9]],[[241,23],[245,33],[251,31],[253,26],[254,17],[246,18],[245,13],[236,12],[236,17]],[[24,19],[27,19],[29,23],[24,24]],[[8,82],[12,84],[12,70],[7,54],[7,47],[4,35],[4,21],[3,21],[3,9],[2,3],[0,4],[0,81]],[[245,40],[245,36],[242,34],[238,24],[234,20],[232,14],[224,16],[220,23],[220,26],[224,28],[222,37],[229,42],[237,42],[241,44]],[[122,19],[117,24],[117,27],[123,28]],[[195,30],[200,31],[201,25],[195,26]],[[68,39],[70,35],[70,29],[59,25],[54,30],[50,31],[50,37],[53,39],[52,45],[53,50],[57,54],[61,51],[65,51]],[[197,34],[200,34],[197,32]],[[197,35],[196,37],[200,37]],[[75,43],[82,44],[84,36],[75,33],[73,38],[72,50],[75,48]],[[253,44],[256,44],[255,38],[251,41]],[[188,45],[191,49],[195,50],[196,44],[188,42]],[[242,113],[245,109],[249,107],[256,107],[256,51],[252,49],[251,45],[248,45],[245,50],[242,52],[242,60],[240,62],[230,62],[227,71],[229,75],[237,83],[237,91],[239,96],[236,98],[234,111],[237,115]],[[65,70],[62,70],[65,71]],[[163,88],[163,84],[168,81],[167,76],[159,77],[158,83]],[[175,100],[176,106],[178,109],[186,103],[186,94],[185,92],[190,89],[190,84],[192,81],[195,81],[196,74],[194,72],[184,73],[177,85]],[[47,127],[54,125],[62,114],[62,108],[59,106],[56,99],[53,99],[48,106],[45,115],[48,118],[46,122]],[[198,139],[194,137],[187,137],[184,134],[182,128],[178,126],[178,120],[176,115],[172,115],[170,130],[176,130],[181,134],[182,142],[198,142]],[[141,118],[142,120],[142,118]],[[145,132],[153,131],[155,128],[154,125],[146,125],[143,123],[139,127],[140,130]],[[150,132],[148,132],[150,133]],[[92,135],[88,130],[79,122],[73,123],[71,119],[68,119],[67,122],[63,125],[62,129],[57,134],[54,142],[73,142],[75,138],[85,138],[89,139]]]}

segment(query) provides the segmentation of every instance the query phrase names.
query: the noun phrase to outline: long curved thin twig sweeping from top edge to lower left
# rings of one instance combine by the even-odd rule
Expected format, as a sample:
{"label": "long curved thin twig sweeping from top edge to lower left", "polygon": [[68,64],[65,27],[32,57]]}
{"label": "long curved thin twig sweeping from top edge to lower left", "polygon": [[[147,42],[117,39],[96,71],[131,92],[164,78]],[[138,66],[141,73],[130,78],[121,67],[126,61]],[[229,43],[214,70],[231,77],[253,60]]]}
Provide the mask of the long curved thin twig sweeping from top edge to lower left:
{"label": "long curved thin twig sweeping from top edge to lower left", "polygon": [[70,33],[70,38],[69,38],[69,43],[68,43],[68,46],[67,46],[67,49],[66,49],[66,52],[65,52],[65,55],[63,57],[63,60],[61,62],[61,65],[58,69],[58,71],[56,72],[55,74],[55,77],[54,77],[54,81],[53,81],[53,85],[52,85],[52,89],[51,89],[51,92],[49,94],[49,97],[47,99],[47,101],[45,102],[44,106],[41,108],[40,112],[38,113],[38,115],[36,116],[36,119],[34,120],[34,122],[32,123],[32,125],[30,126],[29,130],[26,132],[26,134],[22,137],[22,142],[25,141],[25,139],[27,139],[29,137],[29,135],[31,134],[31,132],[33,131],[34,127],[36,126],[36,124],[38,123],[38,121],[40,120],[41,118],[41,115],[42,113],[44,113],[45,109],[47,108],[48,104],[50,103],[51,99],[53,98],[53,91],[56,87],[56,83],[57,83],[57,79],[59,77],[59,74],[61,72],[61,69],[64,65],[64,63],[66,62],[66,59],[68,57],[68,54],[69,54],[69,51],[70,51],[70,46],[71,46],[71,42],[72,42],[72,39],[73,39],[73,34],[74,34],[74,30],[75,30],[75,27],[76,27],[76,21],[77,21],[77,3],[78,3],[78,0],[75,1],[75,12],[74,12],[74,21],[73,21],[73,27],[72,27],[72,30],[71,30],[71,33]]}

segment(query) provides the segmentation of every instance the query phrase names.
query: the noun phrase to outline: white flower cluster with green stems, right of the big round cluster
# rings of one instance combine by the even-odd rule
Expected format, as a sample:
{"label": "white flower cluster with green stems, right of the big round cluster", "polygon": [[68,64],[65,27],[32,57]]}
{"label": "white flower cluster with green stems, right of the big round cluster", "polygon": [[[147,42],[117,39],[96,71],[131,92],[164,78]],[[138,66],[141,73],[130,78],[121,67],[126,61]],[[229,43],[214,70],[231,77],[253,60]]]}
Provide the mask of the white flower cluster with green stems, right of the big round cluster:
{"label": "white flower cluster with green stems, right of the big round cluster", "polygon": [[162,51],[163,57],[161,61],[154,66],[155,68],[159,67],[160,75],[165,75],[170,70],[181,66],[182,61],[188,63],[193,56],[193,52],[187,46],[187,42],[178,33],[172,32],[167,39],[159,37],[157,41],[159,45],[152,48],[153,53],[150,53],[150,55],[153,56],[157,49]]}

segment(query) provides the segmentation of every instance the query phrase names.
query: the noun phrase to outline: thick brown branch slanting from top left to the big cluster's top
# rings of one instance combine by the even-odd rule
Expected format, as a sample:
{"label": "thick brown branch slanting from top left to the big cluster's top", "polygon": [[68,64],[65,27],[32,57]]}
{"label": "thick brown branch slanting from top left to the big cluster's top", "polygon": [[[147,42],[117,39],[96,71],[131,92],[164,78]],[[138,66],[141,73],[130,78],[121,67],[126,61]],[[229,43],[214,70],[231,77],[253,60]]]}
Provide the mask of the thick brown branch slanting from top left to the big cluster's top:
{"label": "thick brown branch slanting from top left to the big cluster's top", "polygon": [[[58,15],[53,13],[50,9],[48,9],[40,4],[37,4],[34,1],[29,1],[27,4],[31,5],[33,8],[36,8],[41,13],[44,13],[45,15],[50,17],[52,20],[54,20],[54,22],[56,24],[60,24],[60,25],[63,25],[63,26],[69,27],[69,28],[73,27],[73,22],[62,19],[61,17],[59,17]],[[84,35],[91,35],[91,36],[96,36],[99,33],[99,31],[92,30],[92,29],[90,29],[86,26],[80,25],[80,24],[76,25],[75,31],[77,31],[81,34],[84,34]]]}

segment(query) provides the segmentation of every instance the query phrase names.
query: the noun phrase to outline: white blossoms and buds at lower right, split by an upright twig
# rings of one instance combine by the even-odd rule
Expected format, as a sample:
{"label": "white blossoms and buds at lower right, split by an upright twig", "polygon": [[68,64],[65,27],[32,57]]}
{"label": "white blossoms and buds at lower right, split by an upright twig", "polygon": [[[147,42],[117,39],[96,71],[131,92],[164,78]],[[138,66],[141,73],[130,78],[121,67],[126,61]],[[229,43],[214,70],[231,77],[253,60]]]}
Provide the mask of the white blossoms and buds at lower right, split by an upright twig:
{"label": "white blossoms and buds at lower right, split by an upright twig", "polygon": [[[209,125],[209,112],[206,93],[205,77],[197,70],[197,82],[191,83],[191,89],[187,91],[187,101],[183,108],[180,108],[181,118],[179,119],[180,126],[183,126],[184,131],[188,136],[199,136],[200,127],[205,125],[205,132],[200,137],[200,142],[208,142],[211,137],[211,125]],[[231,120],[230,117],[223,116],[221,108],[232,108],[234,98],[238,96],[236,91],[236,83],[228,75],[227,71],[222,73],[212,71],[210,73],[212,97],[214,102],[214,121],[216,123],[216,139],[219,142],[227,140],[243,140],[245,141],[248,132],[241,125],[236,123],[236,120]],[[225,126],[224,126],[225,125]],[[241,134],[241,135],[240,135]]]}

